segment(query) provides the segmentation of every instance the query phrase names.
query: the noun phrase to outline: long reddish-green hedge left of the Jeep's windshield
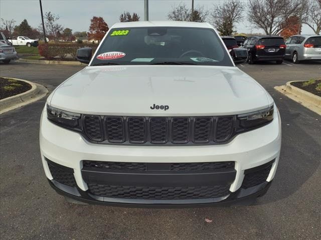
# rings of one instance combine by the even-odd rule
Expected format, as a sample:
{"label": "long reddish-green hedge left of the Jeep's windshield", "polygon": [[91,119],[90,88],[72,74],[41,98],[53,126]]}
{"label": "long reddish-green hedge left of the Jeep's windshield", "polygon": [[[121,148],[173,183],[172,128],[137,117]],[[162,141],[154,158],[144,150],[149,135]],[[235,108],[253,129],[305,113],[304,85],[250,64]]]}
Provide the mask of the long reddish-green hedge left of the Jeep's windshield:
{"label": "long reddish-green hedge left of the Jeep's windshield", "polygon": [[76,59],[78,48],[91,47],[93,52],[98,44],[83,44],[83,43],[43,43],[38,46],[39,54],[47,60],[52,60],[54,57],[65,59],[67,54],[70,54],[73,59]]}

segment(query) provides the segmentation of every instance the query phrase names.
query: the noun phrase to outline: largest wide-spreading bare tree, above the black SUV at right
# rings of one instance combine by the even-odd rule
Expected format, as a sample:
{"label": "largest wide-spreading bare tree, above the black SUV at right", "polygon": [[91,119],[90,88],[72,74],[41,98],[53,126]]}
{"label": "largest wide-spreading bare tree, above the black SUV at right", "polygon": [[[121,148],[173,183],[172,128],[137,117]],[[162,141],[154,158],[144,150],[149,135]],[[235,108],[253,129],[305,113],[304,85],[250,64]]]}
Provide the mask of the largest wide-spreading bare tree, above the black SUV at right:
{"label": "largest wide-spreading bare tree, above the black SUV at right", "polygon": [[299,15],[302,0],[249,0],[248,20],[268,35],[279,34],[289,16]]}

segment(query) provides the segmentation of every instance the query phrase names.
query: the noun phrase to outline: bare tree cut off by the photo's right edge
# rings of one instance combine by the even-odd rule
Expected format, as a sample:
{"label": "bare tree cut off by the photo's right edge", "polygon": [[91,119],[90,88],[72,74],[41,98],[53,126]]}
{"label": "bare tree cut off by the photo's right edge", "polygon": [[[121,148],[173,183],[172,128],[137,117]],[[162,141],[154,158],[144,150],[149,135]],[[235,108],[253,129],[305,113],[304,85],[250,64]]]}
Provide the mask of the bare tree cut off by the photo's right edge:
{"label": "bare tree cut off by the photo's right edge", "polygon": [[306,17],[302,22],[311,27],[315,34],[319,34],[321,31],[321,0],[310,0],[308,3]]}

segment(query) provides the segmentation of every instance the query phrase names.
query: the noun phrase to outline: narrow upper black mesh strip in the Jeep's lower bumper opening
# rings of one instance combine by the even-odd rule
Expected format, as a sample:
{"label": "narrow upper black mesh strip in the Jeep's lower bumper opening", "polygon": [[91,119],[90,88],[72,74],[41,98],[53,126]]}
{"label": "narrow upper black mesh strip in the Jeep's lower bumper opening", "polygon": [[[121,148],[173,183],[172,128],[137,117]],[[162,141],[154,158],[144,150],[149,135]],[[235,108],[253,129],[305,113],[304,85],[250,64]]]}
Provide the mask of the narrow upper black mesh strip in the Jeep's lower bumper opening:
{"label": "narrow upper black mesh strip in the Jeep's lower bumper opening", "polygon": [[147,171],[148,169],[169,171],[203,171],[234,169],[234,161],[217,162],[175,162],[175,163],[147,163],[147,162],[116,162],[83,160],[86,169],[111,169],[119,171]]}

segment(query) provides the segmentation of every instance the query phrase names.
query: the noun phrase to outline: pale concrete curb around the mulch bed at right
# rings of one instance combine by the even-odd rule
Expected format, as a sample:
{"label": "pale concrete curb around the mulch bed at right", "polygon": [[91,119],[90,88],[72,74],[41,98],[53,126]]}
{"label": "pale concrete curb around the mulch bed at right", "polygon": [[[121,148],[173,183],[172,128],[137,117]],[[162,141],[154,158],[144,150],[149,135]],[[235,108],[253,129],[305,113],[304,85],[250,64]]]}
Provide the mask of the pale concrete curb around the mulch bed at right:
{"label": "pale concrete curb around the mulch bed at right", "polygon": [[275,86],[274,89],[321,115],[321,97],[293,86],[291,82],[294,81],[288,81],[282,86]]}

